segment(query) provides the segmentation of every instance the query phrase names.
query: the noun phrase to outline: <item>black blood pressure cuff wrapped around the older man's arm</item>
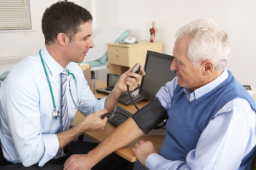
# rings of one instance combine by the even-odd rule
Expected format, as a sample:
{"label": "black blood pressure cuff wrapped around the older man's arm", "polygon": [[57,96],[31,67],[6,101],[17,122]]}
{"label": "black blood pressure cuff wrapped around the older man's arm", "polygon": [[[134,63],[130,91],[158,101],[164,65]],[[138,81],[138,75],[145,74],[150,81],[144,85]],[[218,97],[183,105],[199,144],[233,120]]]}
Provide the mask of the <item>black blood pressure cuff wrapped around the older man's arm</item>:
{"label": "black blood pressure cuff wrapped around the older man's arm", "polygon": [[167,118],[167,111],[162,106],[159,99],[151,101],[146,106],[143,106],[132,116],[133,120],[138,124],[141,130],[148,134],[149,131],[154,129],[164,119]]}

